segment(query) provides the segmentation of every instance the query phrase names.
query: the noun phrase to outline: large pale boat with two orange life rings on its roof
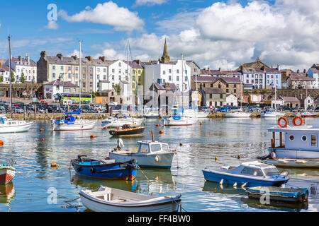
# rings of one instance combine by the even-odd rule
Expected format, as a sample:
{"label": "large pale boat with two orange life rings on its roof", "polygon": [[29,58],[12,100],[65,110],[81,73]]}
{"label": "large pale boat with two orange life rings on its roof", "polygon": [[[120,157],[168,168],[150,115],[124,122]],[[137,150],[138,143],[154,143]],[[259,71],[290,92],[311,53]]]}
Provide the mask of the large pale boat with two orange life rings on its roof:
{"label": "large pale boat with two orange life rings on its roof", "polygon": [[[269,155],[260,157],[261,160],[279,167],[319,167],[319,119],[313,126],[307,126],[301,117],[295,117],[293,125],[281,117],[278,126],[268,131],[272,133],[272,145],[268,148]],[[276,143],[276,133],[279,133],[279,143]]]}

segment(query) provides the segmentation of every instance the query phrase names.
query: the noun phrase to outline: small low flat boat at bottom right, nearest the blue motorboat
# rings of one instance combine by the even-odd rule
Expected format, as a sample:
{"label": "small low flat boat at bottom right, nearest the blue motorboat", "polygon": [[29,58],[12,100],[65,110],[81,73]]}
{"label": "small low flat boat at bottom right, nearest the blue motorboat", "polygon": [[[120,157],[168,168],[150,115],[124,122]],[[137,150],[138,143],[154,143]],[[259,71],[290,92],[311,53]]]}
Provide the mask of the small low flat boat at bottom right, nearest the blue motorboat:
{"label": "small low flat boat at bottom right, nearest the blue motorboat", "polygon": [[257,186],[247,189],[249,198],[261,198],[269,194],[270,201],[304,203],[308,201],[308,189],[279,188],[276,186]]}

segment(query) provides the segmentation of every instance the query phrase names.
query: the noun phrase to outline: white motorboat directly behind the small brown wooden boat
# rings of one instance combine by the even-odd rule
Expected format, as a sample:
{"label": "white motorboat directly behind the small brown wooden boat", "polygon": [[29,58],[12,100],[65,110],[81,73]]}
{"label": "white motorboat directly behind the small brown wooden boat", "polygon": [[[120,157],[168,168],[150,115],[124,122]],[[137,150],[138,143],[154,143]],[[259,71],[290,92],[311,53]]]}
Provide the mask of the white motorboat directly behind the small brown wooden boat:
{"label": "white motorboat directly behind the small brown wooden boat", "polygon": [[125,114],[116,114],[115,117],[107,117],[104,119],[102,121],[102,128],[117,128],[124,125],[141,126],[143,121],[143,119],[126,117]]}

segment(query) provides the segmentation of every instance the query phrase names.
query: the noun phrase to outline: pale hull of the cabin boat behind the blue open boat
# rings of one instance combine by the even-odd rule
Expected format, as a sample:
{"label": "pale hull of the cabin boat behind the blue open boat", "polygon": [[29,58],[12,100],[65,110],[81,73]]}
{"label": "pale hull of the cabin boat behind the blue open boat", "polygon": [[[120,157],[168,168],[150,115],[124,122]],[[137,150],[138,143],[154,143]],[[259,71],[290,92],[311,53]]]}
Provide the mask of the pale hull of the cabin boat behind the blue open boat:
{"label": "pale hull of the cabin boat behind the blue open boat", "polygon": [[172,167],[172,161],[174,153],[157,153],[150,155],[140,155],[140,154],[118,154],[116,152],[109,153],[108,157],[110,159],[116,160],[116,162],[125,162],[131,159],[135,159],[136,163],[140,167],[152,167],[152,168],[166,168],[170,169]]}

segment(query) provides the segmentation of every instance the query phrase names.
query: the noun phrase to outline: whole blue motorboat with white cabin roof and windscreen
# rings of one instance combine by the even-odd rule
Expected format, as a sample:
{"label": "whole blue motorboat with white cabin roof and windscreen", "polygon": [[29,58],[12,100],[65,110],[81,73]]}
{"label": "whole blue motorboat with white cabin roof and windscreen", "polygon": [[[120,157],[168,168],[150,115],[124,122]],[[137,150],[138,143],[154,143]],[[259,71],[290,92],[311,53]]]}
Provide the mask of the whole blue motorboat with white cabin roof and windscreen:
{"label": "whole blue motorboat with white cabin roof and windscreen", "polygon": [[289,177],[280,174],[275,166],[258,161],[242,162],[238,167],[205,168],[203,175],[209,182],[247,187],[280,186],[289,180]]}

